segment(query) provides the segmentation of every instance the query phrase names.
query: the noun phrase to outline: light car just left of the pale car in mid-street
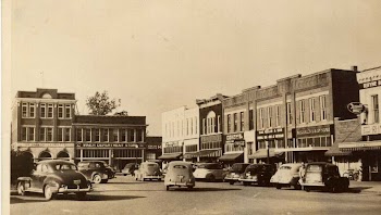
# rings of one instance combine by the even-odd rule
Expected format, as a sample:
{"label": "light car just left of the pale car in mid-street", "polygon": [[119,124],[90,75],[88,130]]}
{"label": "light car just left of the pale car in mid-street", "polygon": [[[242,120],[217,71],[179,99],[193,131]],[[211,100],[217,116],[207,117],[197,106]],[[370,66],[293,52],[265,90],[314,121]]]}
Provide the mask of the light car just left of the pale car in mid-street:
{"label": "light car just left of the pale car in mid-street", "polygon": [[136,180],[161,180],[162,174],[159,164],[155,162],[144,162],[140,164],[139,168],[135,170]]}

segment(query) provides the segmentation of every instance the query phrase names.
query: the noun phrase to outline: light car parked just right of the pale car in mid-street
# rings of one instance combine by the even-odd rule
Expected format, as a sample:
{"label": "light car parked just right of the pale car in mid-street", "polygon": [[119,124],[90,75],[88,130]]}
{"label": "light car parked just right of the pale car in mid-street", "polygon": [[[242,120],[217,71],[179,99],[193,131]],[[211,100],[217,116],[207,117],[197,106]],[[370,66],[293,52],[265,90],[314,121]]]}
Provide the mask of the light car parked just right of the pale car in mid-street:
{"label": "light car parked just right of the pale car in mid-street", "polygon": [[223,180],[225,170],[219,163],[199,163],[195,165],[193,173],[196,179],[206,179],[208,181]]}

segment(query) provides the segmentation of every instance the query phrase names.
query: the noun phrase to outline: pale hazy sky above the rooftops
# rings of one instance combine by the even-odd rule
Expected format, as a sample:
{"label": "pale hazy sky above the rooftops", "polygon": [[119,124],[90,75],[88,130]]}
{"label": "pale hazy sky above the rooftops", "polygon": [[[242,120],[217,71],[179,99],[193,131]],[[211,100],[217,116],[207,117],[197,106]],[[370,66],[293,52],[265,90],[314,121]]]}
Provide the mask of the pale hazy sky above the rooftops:
{"label": "pale hazy sky above the rooftops", "polygon": [[3,13],[2,140],[19,90],[107,90],[147,116],[328,68],[381,65],[379,0],[17,0]]}

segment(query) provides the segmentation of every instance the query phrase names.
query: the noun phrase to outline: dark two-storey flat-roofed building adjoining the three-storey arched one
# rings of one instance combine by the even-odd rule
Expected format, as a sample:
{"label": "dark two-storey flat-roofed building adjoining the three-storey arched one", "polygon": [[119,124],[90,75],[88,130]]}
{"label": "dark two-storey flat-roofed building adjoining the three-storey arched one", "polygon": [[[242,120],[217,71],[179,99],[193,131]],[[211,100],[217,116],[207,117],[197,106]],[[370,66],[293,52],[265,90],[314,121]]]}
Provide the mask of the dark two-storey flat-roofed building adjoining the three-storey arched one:
{"label": "dark two-storey flat-roofed building adjoining the three-storey arched one", "polygon": [[146,116],[77,115],[75,161],[106,161],[116,169],[145,161]]}

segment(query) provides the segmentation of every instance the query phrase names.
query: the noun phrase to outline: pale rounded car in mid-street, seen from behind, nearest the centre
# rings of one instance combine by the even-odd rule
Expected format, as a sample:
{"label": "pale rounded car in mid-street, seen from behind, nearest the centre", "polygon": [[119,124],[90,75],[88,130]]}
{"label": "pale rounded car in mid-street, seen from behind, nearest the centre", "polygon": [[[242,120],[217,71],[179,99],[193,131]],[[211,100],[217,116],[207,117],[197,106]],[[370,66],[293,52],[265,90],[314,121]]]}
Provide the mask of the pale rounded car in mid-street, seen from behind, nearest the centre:
{"label": "pale rounded car in mid-street, seen from behind, nearest the centre", "polygon": [[170,187],[195,187],[195,177],[193,176],[193,166],[189,162],[173,161],[168,164],[168,172],[164,178],[167,190]]}

